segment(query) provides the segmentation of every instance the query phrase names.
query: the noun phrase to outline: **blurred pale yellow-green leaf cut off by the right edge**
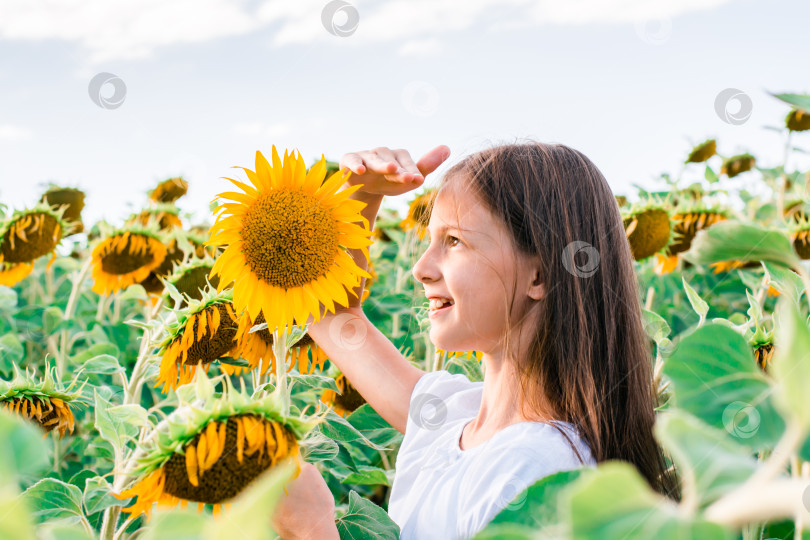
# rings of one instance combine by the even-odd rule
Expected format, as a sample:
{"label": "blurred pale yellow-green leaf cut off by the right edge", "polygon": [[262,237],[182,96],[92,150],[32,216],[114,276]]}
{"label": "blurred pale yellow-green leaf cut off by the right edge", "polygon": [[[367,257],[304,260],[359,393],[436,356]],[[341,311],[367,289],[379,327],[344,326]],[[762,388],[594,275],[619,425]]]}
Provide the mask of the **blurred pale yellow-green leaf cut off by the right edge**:
{"label": "blurred pale yellow-green leaf cut off by the right edge", "polygon": [[793,302],[780,299],[774,325],[774,358],[771,371],[779,384],[776,402],[787,417],[810,431],[810,330]]}

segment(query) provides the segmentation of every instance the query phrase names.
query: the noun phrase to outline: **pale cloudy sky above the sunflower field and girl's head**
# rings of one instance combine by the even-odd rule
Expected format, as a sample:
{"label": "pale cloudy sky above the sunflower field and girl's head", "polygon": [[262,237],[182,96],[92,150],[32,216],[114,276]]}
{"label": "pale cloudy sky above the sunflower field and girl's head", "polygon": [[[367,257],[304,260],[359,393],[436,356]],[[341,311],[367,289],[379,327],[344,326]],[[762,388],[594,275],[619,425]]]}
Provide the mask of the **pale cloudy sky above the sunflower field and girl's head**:
{"label": "pale cloudy sky above the sunflower field and girl's head", "polygon": [[222,177],[273,145],[309,165],[446,144],[432,185],[495,144],[563,143],[616,194],[664,188],[707,138],[773,167],[790,108],[770,94],[810,93],[807,20],[802,0],[0,0],[0,202],[55,182],[115,224],[183,175],[210,223]]}

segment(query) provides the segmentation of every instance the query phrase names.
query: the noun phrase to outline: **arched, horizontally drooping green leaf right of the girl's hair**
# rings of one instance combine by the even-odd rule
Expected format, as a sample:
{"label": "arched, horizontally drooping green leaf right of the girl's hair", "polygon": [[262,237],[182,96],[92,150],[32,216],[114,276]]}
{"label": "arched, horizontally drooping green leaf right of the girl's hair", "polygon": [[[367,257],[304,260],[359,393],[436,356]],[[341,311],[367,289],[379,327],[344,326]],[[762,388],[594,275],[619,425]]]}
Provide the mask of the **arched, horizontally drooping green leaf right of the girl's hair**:
{"label": "arched, horizontally drooping green leaf right of the girl's hair", "polygon": [[794,268],[800,265],[783,231],[732,220],[698,231],[683,257],[697,265],[732,260],[768,261]]}

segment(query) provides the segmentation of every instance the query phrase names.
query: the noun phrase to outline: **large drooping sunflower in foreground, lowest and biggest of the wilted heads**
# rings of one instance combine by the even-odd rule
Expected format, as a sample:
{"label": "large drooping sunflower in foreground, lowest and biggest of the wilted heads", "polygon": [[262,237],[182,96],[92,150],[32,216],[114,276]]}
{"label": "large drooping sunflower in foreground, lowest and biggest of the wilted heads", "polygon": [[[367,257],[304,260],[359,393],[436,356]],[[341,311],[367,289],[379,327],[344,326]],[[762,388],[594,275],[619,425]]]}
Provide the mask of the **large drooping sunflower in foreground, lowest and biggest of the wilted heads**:
{"label": "large drooping sunflower in foreground, lowest and biggest of the wilted heads", "polygon": [[149,516],[154,503],[196,502],[200,511],[213,505],[218,514],[281,461],[291,459],[300,471],[298,441],[320,419],[284,417],[277,394],[256,400],[227,384],[222,396],[212,393],[199,406],[183,403],[154,428],[135,459],[135,483],[114,494],[137,498],[123,512]]}

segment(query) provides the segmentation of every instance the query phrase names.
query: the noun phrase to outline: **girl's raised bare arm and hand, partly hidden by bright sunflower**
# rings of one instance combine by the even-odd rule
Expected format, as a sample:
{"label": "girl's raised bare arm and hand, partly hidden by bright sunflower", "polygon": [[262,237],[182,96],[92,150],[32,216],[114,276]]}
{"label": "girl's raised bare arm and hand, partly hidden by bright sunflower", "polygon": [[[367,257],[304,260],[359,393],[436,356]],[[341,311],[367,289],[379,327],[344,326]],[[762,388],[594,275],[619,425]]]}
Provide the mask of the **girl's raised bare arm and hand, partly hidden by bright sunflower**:
{"label": "girl's raised bare arm and hand, partly hidden by bright sunflower", "polygon": [[[361,211],[374,227],[374,220],[384,195],[399,195],[418,188],[424,177],[450,155],[447,146],[438,146],[414,163],[405,150],[376,148],[368,152],[343,156],[341,169],[352,171],[345,187],[363,184],[350,198],[366,203]],[[368,263],[360,249],[349,250],[355,263],[367,270]],[[366,317],[360,307],[366,279],[349,295],[349,306],[335,305],[335,313],[325,313],[312,322],[309,335],[329,359],[349,379],[352,386],[380,416],[405,433],[411,393],[424,372],[413,366],[394,344]]]}

